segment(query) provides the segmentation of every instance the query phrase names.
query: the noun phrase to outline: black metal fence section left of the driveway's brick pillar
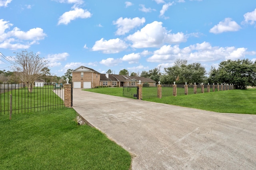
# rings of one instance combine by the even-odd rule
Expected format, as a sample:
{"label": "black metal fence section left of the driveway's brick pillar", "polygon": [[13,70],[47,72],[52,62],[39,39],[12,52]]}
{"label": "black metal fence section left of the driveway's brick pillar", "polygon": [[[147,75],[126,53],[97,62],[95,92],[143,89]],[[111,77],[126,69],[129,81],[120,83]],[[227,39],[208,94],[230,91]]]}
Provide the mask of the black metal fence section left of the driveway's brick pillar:
{"label": "black metal fence section left of the driveway's brick pillar", "polygon": [[52,85],[35,87],[29,92],[22,84],[0,85],[0,115],[29,113],[64,107],[64,90]]}

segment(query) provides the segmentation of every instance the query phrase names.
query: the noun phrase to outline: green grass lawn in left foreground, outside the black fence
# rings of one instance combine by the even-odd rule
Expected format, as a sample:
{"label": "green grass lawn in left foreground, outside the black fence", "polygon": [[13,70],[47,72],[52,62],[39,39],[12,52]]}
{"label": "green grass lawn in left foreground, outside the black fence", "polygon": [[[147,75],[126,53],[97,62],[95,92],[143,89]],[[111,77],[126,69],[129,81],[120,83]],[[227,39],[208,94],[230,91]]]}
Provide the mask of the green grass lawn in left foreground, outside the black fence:
{"label": "green grass lawn in left foreground, outside the black fence", "polygon": [[128,170],[130,154],[61,108],[0,116],[1,170]]}

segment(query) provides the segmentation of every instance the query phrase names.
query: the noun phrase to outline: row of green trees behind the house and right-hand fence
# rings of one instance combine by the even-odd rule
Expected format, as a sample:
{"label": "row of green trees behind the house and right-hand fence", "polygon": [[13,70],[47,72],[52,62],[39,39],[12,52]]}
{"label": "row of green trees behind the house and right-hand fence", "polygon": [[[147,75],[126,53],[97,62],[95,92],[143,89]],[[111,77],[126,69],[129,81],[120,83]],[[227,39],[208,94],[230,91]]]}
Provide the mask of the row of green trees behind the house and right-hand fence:
{"label": "row of green trees behind the house and right-hand fence", "polygon": [[[108,70],[107,73],[112,73]],[[121,75],[129,75],[128,70],[123,69]],[[174,66],[164,68],[164,73],[159,68],[142,71],[140,74],[132,72],[130,76],[151,78],[161,84],[234,84],[236,89],[246,89],[247,86],[256,86],[256,61],[249,59],[222,61],[218,68],[211,67],[206,72],[201,63],[188,64],[186,59],[177,59]]]}

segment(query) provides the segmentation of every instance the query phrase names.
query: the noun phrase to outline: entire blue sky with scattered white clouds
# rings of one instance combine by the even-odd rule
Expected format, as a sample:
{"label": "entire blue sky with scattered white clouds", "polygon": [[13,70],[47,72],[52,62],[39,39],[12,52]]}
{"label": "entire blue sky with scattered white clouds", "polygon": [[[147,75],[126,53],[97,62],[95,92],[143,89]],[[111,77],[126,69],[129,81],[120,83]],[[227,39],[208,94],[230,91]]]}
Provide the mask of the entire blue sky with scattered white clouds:
{"label": "entire blue sky with scattered white clouds", "polygon": [[81,65],[164,72],[177,58],[209,71],[256,61],[255,40],[256,0],[0,0],[0,53],[38,53],[57,76]]}

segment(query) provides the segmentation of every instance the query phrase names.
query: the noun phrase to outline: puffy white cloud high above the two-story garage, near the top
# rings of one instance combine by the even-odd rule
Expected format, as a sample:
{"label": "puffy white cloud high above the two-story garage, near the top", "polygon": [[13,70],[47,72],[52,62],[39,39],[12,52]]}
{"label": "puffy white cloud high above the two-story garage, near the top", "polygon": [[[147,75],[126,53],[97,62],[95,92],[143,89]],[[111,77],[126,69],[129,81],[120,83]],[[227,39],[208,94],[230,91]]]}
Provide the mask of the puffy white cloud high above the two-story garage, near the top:
{"label": "puffy white cloud high above the two-story garage, near the top", "polygon": [[65,12],[64,14],[62,14],[62,16],[60,16],[58,25],[67,25],[68,23],[70,23],[70,21],[75,20],[76,18],[90,18],[91,16],[92,14],[87,10],[84,10],[82,8],[74,8],[74,10]]}

